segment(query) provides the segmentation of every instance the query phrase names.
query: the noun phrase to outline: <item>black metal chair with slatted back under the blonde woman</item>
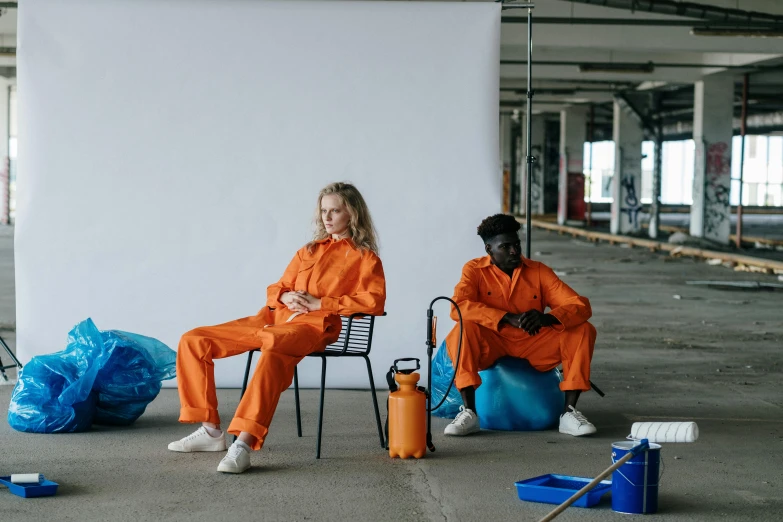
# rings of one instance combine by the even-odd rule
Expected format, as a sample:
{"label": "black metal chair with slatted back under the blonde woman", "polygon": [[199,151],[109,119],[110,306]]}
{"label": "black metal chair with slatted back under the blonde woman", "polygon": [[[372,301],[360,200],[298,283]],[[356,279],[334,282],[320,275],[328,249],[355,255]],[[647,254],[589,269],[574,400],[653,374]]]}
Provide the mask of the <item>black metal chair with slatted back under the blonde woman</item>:
{"label": "black metal chair with slatted back under the blonde woman", "polygon": [[[383,315],[386,315],[384,312]],[[318,439],[315,448],[315,458],[321,458],[321,431],[324,417],[324,392],[326,391],[326,359],[329,357],[362,357],[367,364],[367,376],[370,378],[370,392],[372,404],[375,409],[375,422],[378,425],[378,436],[381,439],[381,447],[386,448],[386,440],[383,436],[381,414],[378,411],[378,397],[375,395],[375,382],[372,378],[372,364],[370,364],[370,348],[372,348],[372,333],[375,326],[375,316],[353,314],[342,316],[343,322],[340,337],[333,344],[326,347],[323,352],[314,352],[307,357],[321,358],[321,404],[318,408]],[[247,389],[247,380],[250,376],[250,365],[253,363],[253,354],[260,350],[252,350],[247,354],[247,366],[245,366],[245,378],[242,381],[242,394]],[[294,396],[296,400],[296,431],[302,436],[302,417],[299,411],[299,372],[294,368]]]}

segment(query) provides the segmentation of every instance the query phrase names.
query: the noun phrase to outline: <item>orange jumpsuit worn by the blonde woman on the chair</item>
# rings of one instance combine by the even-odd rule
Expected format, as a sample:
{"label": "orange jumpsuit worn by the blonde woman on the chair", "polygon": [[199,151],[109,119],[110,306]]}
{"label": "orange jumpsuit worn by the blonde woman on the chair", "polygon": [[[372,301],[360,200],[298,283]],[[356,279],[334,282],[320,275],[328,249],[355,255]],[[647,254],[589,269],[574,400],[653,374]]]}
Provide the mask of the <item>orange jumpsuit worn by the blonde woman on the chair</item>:
{"label": "orange jumpsuit worn by the blonde woman on the chair", "polygon": [[[296,315],[280,296],[306,291],[321,299],[321,310]],[[323,351],[340,335],[340,315],[380,315],[386,302],[381,260],[359,250],[350,239],[318,241],[301,248],[280,281],[267,289],[257,315],[191,330],[177,351],[180,422],[220,423],[214,359],[260,348],[261,357],[228,432],[246,431],[261,449],[280,394],[291,385],[294,368],[309,353]]]}

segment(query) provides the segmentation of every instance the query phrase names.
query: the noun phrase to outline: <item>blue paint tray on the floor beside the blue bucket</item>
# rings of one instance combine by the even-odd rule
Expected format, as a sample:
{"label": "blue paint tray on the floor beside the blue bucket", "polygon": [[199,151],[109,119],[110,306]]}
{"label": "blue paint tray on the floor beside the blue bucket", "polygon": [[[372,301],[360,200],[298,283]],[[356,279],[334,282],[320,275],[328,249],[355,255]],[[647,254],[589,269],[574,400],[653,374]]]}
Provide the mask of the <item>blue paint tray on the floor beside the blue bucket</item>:
{"label": "blue paint tray on the floor beside the blue bucket", "polygon": [[[591,478],[570,477],[568,475],[541,475],[515,482],[519,500],[562,504],[571,496],[592,482]],[[602,480],[593,489],[571,504],[578,507],[592,507],[612,488],[611,480]]]}

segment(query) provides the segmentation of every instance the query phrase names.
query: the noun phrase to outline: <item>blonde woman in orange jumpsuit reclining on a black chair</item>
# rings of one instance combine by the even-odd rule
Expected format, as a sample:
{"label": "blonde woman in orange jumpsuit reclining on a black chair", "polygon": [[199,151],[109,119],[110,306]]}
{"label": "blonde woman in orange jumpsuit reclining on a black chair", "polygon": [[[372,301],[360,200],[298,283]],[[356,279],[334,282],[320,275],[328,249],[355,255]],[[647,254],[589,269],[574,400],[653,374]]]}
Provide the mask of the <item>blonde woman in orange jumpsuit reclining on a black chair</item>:
{"label": "blonde woman in orange jumpsuit reclining on a black chair", "polygon": [[299,361],[337,340],[340,315],[380,315],[385,302],[386,280],[364,198],[348,183],[327,185],[318,195],[313,241],[267,289],[266,306],[254,316],[182,336],[177,352],[179,421],[200,422],[201,427],[169,449],[226,450],[212,361],[260,348],[256,371],[227,430],[237,440],[217,468],[224,473],[247,470],[250,451],[263,446],[280,394],[291,385]]}

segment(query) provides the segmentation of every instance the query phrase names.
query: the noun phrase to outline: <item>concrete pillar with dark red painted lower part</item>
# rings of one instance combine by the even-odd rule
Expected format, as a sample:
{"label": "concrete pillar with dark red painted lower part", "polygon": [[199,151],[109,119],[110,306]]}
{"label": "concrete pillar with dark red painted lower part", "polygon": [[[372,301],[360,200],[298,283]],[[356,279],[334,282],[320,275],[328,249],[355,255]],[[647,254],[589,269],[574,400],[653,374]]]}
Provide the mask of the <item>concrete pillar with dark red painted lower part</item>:
{"label": "concrete pillar with dark red painted lower part", "polygon": [[560,174],[557,200],[557,222],[560,225],[564,225],[567,219],[584,219],[584,197],[580,201],[575,193],[578,191],[584,196],[586,138],[587,107],[569,107],[560,111]]}

